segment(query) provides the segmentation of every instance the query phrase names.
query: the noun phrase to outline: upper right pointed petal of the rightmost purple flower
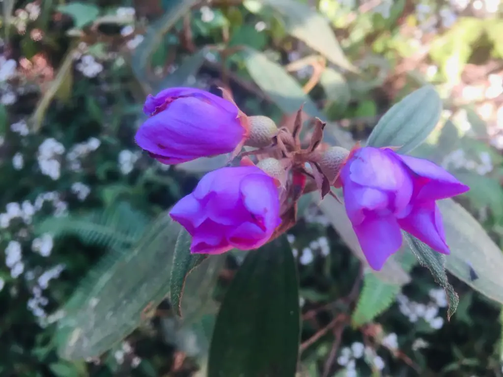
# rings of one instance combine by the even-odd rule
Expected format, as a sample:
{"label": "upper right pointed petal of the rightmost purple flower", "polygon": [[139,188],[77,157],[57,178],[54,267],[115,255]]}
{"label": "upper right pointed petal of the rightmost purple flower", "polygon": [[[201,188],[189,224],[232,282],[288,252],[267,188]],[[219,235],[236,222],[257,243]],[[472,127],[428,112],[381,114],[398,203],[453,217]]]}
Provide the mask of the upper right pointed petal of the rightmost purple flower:
{"label": "upper right pointed petal of the rightmost purple flower", "polygon": [[470,187],[431,161],[399,154],[397,157],[418,176],[414,183],[417,200],[447,199],[470,190]]}

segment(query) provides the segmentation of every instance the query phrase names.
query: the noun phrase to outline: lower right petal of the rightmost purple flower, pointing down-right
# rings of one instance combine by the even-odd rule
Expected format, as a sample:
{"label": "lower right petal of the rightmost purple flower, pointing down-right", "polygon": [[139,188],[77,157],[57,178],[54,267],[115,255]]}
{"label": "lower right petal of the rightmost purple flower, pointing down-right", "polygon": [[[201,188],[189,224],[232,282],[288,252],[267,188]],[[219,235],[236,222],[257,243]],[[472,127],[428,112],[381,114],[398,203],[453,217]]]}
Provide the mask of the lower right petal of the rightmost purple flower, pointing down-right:
{"label": "lower right petal of the rightmost purple flower, pointing down-right", "polygon": [[434,201],[416,204],[408,216],[398,219],[398,224],[404,231],[423,241],[435,251],[442,254],[450,253],[445,241],[442,214]]}

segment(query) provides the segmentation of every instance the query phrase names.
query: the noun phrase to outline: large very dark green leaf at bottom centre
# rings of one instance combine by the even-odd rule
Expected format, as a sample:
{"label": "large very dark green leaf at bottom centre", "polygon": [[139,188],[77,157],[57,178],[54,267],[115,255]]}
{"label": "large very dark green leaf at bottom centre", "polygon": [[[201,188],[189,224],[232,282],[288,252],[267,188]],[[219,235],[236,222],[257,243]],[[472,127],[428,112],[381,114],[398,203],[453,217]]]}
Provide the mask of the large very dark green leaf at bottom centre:
{"label": "large very dark green leaf at bottom centre", "polygon": [[208,377],[292,377],[300,320],[297,268],[282,236],[250,251],[215,323]]}

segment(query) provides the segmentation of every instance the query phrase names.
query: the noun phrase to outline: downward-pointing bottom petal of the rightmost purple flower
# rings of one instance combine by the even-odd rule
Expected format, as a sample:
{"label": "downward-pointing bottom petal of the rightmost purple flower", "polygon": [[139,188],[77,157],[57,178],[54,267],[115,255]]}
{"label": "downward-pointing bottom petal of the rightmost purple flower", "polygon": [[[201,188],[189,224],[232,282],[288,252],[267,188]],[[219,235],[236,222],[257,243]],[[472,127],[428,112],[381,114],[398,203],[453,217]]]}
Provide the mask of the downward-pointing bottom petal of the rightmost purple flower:
{"label": "downward-pointing bottom petal of the rightmost purple flower", "polygon": [[402,233],[393,216],[368,216],[357,226],[353,225],[362,251],[370,266],[380,270],[390,255],[402,245]]}

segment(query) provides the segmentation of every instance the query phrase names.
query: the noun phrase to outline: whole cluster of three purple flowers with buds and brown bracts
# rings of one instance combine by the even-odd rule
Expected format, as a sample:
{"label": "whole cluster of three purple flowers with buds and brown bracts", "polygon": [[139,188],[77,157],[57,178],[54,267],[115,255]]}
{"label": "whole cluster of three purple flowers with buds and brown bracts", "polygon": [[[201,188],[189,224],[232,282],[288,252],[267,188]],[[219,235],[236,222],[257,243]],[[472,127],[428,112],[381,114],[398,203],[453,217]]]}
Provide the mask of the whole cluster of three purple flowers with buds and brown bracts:
{"label": "whole cluster of three purple flowers with buds and brown bracts", "polygon": [[171,210],[192,235],[193,253],[258,248],[295,224],[303,194],[335,196],[331,187],[342,187],[372,268],[398,251],[402,231],[449,253],[436,201],[469,189],[433,162],[392,148],[330,147],[322,143],[319,119],[310,139],[301,140],[302,109],[277,127],[267,117],[246,116],[225,90],[220,98],[195,88],[165,89],[148,96],[143,111],[149,118],[136,143],[163,164],[230,154],[228,166],[207,173]]}

